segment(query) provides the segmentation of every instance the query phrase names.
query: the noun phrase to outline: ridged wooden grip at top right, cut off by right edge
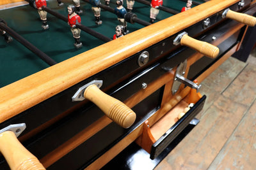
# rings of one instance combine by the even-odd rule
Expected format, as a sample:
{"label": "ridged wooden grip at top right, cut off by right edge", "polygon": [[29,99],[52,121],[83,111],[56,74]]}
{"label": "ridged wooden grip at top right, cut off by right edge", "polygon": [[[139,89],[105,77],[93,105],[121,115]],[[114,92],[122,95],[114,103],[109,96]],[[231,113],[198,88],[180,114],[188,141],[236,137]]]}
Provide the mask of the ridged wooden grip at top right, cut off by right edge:
{"label": "ridged wooden grip at top right, cut off by right edge", "polygon": [[228,10],[226,17],[252,27],[254,27],[256,24],[256,18],[245,13],[238,13],[232,10]]}

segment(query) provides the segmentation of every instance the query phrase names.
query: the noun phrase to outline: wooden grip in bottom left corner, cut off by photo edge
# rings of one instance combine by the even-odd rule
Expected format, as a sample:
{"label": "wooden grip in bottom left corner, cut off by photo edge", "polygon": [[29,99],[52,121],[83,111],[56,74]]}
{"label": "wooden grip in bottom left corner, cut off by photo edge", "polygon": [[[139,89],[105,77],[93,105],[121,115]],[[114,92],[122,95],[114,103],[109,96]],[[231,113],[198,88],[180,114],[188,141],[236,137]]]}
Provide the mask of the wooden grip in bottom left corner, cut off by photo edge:
{"label": "wooden grip in bottom left corner, cut off by photo edge", "polygon": [[19,142],[12,131],[5,131],[0,134],[0,152],[4,155],[11,169],[45,169],[39,160]]}

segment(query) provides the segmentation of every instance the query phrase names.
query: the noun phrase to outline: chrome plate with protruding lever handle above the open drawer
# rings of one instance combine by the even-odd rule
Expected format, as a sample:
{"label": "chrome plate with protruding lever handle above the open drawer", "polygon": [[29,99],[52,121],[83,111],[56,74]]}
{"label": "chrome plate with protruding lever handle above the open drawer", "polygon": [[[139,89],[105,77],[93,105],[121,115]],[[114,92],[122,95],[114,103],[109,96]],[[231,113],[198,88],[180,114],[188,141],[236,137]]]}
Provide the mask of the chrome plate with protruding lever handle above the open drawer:
{"label": "chrome plate with protruding lever handle above the open drawer", "polygon": [[181,83],[184,83],[185,85],[187,85],[188,87],[191,87],[192,89],[196,89],[196,92],[198,92],[198,90],[200,89],[201,85],[197,85],[193,81],[188,80],[187,78],[184,78],[183,75],[185,74],[186,67],[187,67],[187,60],[185,60],[184,62],[181,62],[177,67],[175,78],[172,85],[172,94],[175,94],[179,90]]}

